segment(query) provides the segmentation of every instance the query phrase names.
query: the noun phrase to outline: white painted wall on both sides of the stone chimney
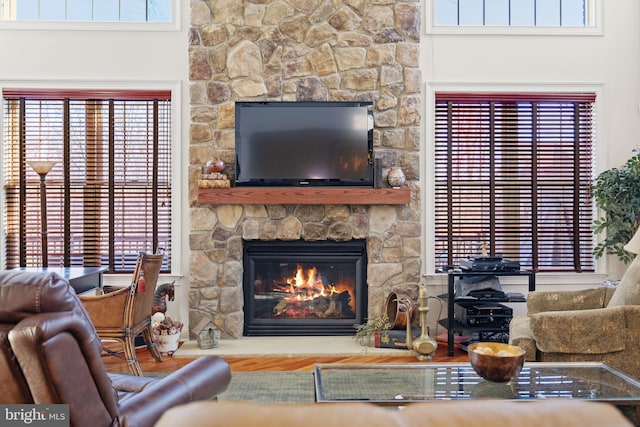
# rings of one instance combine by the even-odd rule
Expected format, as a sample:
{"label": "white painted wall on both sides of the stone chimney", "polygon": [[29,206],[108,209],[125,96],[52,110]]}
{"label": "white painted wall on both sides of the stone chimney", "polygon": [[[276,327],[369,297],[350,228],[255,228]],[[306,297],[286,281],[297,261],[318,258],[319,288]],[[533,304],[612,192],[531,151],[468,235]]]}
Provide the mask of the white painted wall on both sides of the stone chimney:
{"label": "white painted wall on both sides of the stone chimney", "polygon": [[[423,10],[428,0],[422,0]],[[426,2],[426,3],[425,3]],[[166,87],[174,90],[177,135],[174,150],[174,273],[188,277],[189,2],[179,1],[178,28],[169,31],[28,30],[0,27],[0,89],[3,87]],[[586,87],[598,90],[598,170],[619,166],[640,136],[640,3],[603,1],[601,35],[497,36],[426,35],[421,65],[425,82],[425,132],[434,88],[513,90]],[[427,13],[423,13],[426,20]],[[1,120],[1,117],[0,117]],[[423,163],[428,162],[428,155]],[[428,177],[422,174],[425,188]],[[429,203],[429,192],[426,192]],[[431,209],[425,209],[428,213]],[[427,217],[428,220],[428,217]],[[425,230],[429,228],[426,227]],[[428,245],[425,242],[425,248]],[[178,249],[178,250],[177,250]],[[620,266],[612,263],[616,275]],[[540,282],[540,280],[538,280]],[[181,282],[186,283],[183,278]],[[179,318],[187,319],[187,286],[177,296]]]}

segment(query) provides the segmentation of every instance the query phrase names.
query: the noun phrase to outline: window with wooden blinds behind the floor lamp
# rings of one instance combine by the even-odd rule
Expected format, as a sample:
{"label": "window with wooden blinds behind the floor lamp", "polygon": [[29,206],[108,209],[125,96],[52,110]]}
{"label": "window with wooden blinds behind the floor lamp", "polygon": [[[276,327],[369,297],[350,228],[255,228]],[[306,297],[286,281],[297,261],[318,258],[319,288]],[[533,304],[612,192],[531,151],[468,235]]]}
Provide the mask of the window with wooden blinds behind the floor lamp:
{"label": "window with wooden blinds behind the floor lamp", "polygon": [[7,268],[41,265],[46,175],[49,266],[133,271],[139,251],[171,260],[171,94],[20,91],[4,97]]}

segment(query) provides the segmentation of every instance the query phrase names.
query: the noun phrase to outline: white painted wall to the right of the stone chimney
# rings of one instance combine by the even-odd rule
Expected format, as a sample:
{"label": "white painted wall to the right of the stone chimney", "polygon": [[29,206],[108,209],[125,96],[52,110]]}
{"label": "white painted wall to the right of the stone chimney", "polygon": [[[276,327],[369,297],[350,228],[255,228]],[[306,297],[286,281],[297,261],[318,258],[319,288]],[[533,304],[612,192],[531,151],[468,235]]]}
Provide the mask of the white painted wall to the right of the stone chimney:
{"label": "white painted wall to the right of the stone chimney", "polygon": [[[427,4],[421,56],[426,206],[433,200],[429,114],[437,90],[596,91],[596,173],[620,166],[640,145],[640,3],[636,0],[603,0],[601,32],[572,36],[427,35],[430,2],[423,2]],[[432,229],[431,210],[424,209],[427,232]],[[428,250],[428,242],[425,248]],[[429,259],[427,254],[427,262]],[[607,259],[598,268],[619,278],[624,266]],[[544,277],[538,281],[544,283]]]}

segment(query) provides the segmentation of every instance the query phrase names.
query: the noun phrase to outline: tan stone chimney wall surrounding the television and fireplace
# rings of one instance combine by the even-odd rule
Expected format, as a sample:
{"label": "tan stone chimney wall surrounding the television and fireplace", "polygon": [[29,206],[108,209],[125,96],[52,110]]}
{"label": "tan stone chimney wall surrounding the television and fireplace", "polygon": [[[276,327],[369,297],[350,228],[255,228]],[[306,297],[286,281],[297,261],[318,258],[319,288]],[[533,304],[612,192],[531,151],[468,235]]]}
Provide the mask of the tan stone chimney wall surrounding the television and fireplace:
{"label": "tan stone chimney wall surrounding the television and fireplace", "polygon": [[[420,3],[379,0],[192,0],[189,48],[189,324],[243,336],[243,242],[362,240],[367,312],[415,290],[421,271]],[[383,174],[400,166],[406,204],[286,200],[203,203],[212,156],[233,174],[236,101],[373,101]],[[251,201],[251,197],[247,196]],[[355,330],[354,330],[355,331]]]}

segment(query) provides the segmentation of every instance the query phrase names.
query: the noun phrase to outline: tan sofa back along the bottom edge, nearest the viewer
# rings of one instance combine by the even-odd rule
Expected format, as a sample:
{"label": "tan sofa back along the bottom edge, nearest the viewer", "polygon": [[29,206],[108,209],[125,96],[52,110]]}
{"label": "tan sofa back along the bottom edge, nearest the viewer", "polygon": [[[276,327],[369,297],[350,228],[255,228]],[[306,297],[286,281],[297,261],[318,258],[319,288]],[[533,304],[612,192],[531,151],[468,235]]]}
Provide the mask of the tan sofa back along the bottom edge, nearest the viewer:
{"label": "tan sofa back along the bottom edge, nearest the viewer", "polygon": [[614,406],[578,400],[413,403],[392,410],[369,403],[196,402],[167,411],[156,427],[630,427]]}

